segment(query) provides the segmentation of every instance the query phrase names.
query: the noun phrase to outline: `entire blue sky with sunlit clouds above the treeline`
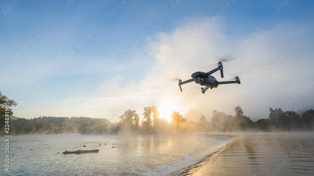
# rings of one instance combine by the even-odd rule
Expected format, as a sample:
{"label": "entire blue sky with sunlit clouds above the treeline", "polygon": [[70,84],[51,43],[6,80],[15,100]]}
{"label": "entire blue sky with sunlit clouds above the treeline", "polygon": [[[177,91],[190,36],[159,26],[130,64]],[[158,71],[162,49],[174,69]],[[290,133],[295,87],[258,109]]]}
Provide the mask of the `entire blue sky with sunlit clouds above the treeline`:
{"label": "entire blue sky with sunlit clouds above the treeline", "polygon": [[[256,121],[269,107],[314,107],[314,2],[310,0],[50,0],[0,2],[0,91],[14,115],[143,119],[178,111],[189,121],[240,106]],[[202,94],[178,79],[226,59]]]}

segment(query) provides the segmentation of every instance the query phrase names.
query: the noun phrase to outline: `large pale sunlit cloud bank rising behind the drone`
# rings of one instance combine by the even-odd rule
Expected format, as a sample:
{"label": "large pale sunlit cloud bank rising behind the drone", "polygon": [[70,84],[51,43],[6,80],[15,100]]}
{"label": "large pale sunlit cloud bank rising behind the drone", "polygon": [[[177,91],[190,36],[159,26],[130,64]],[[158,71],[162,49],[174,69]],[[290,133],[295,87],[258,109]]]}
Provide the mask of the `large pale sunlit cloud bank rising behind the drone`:
{"label": "large pale sunlit cloud bank rising behind the drone", "polygon": [[[307,37],[310,33],[311,26],[283,21],[272,29],[251,26],[251,32],[234,39],[225,32],[223,22],[213,23],[210,18],[186,19],[186,23],[176,30],[159,33],[155,39],[150,39],[147,50],[139,53],[149,53],[154,58],[151,65],[136,68],[149,70],[143,79],[136,79],[143,75],[131,77],[128,69],[134,68],[122,64],[123,72],[108,77],[75,111],[65,105],[63,116],[108,118],[116,122],[119,119],[115,114],[123,109],[137,110],[142,118],[143,108],[155,105],[169,111],[169,116],[165,117],[168,120],[171,111],[177,110],[184,118],[198,121],[201,114],[209,120],[214,109],[228,112],[240,105],[244,114],[255,121],[268,118],[270,106],[283,108],[295,96],[299,101],[289,110],[307,107],[312,101],[309,97],[313,97],[314,87],[309,88],[306,96],[299,97],[297,93],[314,75],[310,53],[313,44]],[[298,47],[289,56],[285,55],[284,51],[297,40],[301,42]],[[281,56],[284,60],[267,76],[265,70]],[[225,78],[220,78],[219,72],[213,76],[219,81],[240,76],[241,84],[219,85],[202,94],[198,84],[188,83],[182,85],[183,92],[180,92],[177,79],[184,81],[194,72],[208,72],[225,57],[231,59],[224,63]],[[71,102],[73,100],[68,100]]]}

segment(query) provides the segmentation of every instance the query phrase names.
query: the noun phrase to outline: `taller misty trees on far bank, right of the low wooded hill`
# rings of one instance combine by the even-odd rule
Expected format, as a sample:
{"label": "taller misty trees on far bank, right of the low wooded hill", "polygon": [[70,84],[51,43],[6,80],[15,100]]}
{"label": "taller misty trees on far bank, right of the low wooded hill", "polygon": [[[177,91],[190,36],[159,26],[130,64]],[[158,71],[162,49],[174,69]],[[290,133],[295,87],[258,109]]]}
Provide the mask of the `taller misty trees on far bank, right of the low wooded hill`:
{"label": "taller misty trees on far bank, right of the low wooded hill", "polygon": [[[253,122],[243,114],[240,106],[235,108],[235,116],[227,115],[223,112],[213,111],[209,123],[202,114],[198,122],[188,121],[179,112],[171,113],[171,121],[159,118],[158,109],[155,106],[144,107],[141,125],[138,123],[136,111],[127,110],[121,115],[120,122],[114,123],[115,132],[133,131],[140,133],[150,133],[154,130],[164,132],[241,132],[241,131],[295,131],[313,130],[314,110],[309,109],[299,115],[294,111],[284,112],[281,108],[269,108],[269,117]],[[153,119],[153,120],[152,120]]]}

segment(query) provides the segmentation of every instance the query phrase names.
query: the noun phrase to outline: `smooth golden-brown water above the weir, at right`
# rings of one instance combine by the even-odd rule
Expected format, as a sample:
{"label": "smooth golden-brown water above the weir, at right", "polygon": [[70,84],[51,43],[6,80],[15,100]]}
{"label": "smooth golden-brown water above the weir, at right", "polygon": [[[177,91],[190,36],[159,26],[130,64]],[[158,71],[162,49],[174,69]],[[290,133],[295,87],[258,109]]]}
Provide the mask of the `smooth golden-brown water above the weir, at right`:
{"label": "smooth golden-brown water above the weir, at right", "polygon": [[241,133],[196,175],[314,175],[313,133]]}

